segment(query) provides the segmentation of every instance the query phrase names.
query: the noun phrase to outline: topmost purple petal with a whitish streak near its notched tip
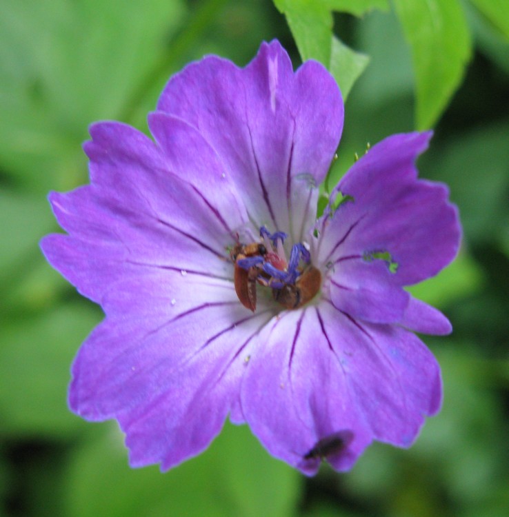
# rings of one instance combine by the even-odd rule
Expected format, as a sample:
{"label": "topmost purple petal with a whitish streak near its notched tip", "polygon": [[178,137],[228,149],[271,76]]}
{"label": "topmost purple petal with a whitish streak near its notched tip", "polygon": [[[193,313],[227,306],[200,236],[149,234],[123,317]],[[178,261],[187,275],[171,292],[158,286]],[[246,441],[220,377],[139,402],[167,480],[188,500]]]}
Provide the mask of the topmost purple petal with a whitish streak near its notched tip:
{"label": "topmost purple petal with a whitish streak near its notched tip", "polygon": [[263,43],[244,69],[217,57],[189,65],[166,85],[158,109],[201,132],[249,192],[254,221],[289,228],[301,241],[343,125],[341,94],[325,68],[308,62],[294,74],[279,42]]}

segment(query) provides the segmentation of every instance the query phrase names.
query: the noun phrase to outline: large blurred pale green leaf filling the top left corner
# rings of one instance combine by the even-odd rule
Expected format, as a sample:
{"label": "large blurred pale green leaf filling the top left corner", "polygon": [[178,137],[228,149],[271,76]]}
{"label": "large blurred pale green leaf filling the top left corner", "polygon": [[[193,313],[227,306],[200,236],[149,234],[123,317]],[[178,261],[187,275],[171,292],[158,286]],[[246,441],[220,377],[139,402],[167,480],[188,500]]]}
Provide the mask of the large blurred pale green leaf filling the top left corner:
{"label": "large blurred pale green leaf filling the top left corner", "polygon": [[181,0],[0,4],[0,160],[39,192],[83,174],[94,119],[118,118],[164,52]]}

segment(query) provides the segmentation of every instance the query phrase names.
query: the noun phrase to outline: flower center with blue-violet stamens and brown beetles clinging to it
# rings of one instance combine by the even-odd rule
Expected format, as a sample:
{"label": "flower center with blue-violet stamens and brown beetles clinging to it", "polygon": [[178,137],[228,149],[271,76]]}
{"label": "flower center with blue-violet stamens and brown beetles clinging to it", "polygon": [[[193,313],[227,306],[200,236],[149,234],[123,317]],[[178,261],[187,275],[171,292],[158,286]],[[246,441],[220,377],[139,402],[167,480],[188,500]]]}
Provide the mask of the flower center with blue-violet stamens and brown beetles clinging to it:
{"label": "flower center with blue-violet stamens and brown beetles clinging to it", "polygon": [[321,273],[310,263],[306,245],[294,244],[287,260],[285,233],[271,234],[262,226],[260,236],[263,243],[237,243],[230,252],[235,265],[235,292],[242,305],[255,312],[257,284],[272,290],[272,298],[285,309],[298,309],[315,298],[321,287]]}

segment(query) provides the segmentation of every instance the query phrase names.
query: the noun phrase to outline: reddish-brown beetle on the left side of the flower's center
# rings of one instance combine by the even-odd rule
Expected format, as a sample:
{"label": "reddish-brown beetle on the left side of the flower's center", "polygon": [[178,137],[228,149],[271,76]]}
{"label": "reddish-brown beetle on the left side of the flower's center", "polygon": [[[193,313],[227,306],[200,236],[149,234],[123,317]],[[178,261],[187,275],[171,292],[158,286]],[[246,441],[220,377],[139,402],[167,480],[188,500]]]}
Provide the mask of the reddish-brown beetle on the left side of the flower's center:
{"label": "reddish-brown beetle on the left side of the flower's center", "polygon": [[230,256],[234,262],[233,281],[235,292],[240,303],[247,309],[255,312],[257,308],[257,279],[260,270],[253,265],[248,270],[239,266],[239,260],[246,259],[251,256],[266,256],[267,248],[261,243],[236,244],[234,245]]}

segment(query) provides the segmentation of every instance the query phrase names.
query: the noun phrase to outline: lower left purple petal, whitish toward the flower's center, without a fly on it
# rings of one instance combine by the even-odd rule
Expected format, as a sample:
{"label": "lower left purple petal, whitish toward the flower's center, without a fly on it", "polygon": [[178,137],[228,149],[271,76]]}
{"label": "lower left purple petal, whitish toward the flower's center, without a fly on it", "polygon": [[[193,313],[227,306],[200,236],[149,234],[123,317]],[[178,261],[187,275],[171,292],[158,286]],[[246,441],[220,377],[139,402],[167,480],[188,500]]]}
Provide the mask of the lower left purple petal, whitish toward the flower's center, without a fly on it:
{"label": "lower left purple petal, whitish toward the flower's center, without a fly on it", "polygon": [[[128,307],[137,303],[131,287],[123,293]],[[146,296],[148,287],[138,296]],[[263,313],[246,316],[239,303],[206,304],[202,298],[181,312],[177,307],[186,301],[180,302],[173,317],[157,297],[153,305],[131,307],[132,317],[110,314],[74,361],[72,409],[90,420],[117,418],[133,466],[161,463],[168,469],[207,447],[237,397],[251,341],[267,319]]]}

